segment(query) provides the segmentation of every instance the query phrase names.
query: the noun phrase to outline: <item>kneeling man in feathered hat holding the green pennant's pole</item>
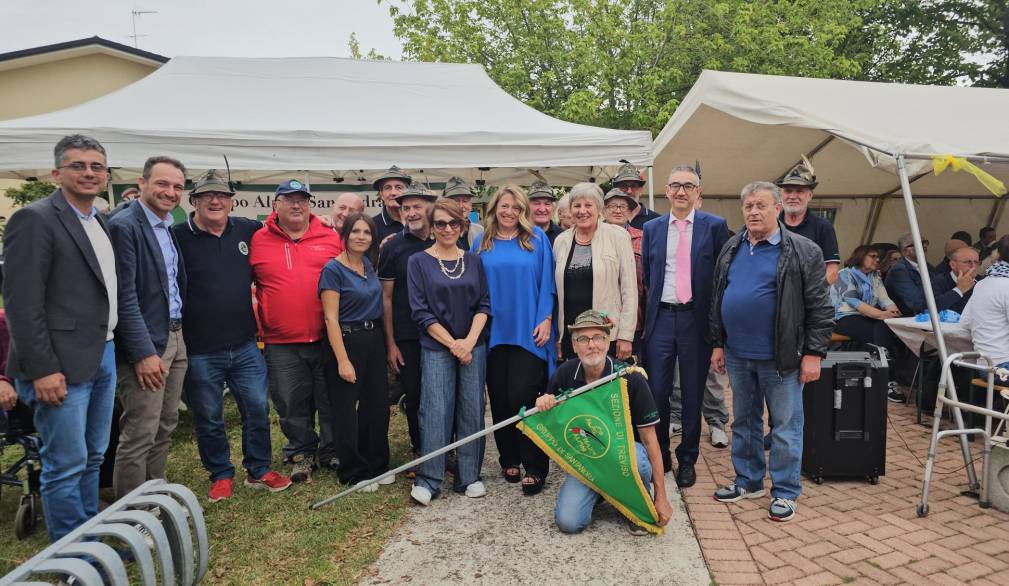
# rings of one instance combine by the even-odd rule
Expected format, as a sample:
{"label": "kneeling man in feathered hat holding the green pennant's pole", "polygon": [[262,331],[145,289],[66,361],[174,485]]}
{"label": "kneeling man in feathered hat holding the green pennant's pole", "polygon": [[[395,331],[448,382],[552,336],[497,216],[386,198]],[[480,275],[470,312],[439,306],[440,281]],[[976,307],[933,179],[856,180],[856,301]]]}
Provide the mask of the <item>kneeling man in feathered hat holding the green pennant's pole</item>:
{"label": "kneeling man in feathered hat holding the green pennant's pole", "polygon": [[[594,310],[581,313],[574,323],[568,326],[574,337],[574,349],[578,357],[568,360],[557,368],[547,385],[547,392],[536,399],[538,409],[553,408],[557,404],[554,395],[563,389],[584,386],[613,371],[613,359],[606,355],[610,328],[612,324],[609,320]],[[655,435],[659,415],[645,377],[638,372],[632,372],[627,375],[627,382],[631,422],[635,428],[638,474],[645,486],[651,484],[655,510],[659,513],[658,524],[665,526],[673,509],[666,497],[662,455],[659,453],[659,440]],[[566,534],[581,532],[591,522],[592,509],[599,500],[599,495],[591,488],[573,476],[567,475],[560,492],[557,493],[557,509],[554,512],[557,529]],[[635,535],[646,533],[630,521],[628,528]]]}

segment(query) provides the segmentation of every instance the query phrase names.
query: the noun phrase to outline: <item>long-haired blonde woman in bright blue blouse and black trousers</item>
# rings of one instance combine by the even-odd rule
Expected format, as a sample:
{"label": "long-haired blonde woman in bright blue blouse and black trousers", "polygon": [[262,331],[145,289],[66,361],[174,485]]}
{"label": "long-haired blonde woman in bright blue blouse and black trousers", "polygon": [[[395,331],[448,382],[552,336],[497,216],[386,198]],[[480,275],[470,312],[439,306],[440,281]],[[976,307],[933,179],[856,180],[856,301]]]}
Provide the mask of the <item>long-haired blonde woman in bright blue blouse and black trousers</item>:
{"label": "long-haired blonde woman in bright blue blouse and black trousers", "polygon": [[[494,423],[532,407],[557,366],[553,327],[554,257],[550,240],[529,213],[517,186],[497,190],[487,205],[486,227],[473,242],[490,288],[487,394]],[[523,492],[543,490],[550,461],[515,426],[494,433],[504,479]],[[526,474],[523,476],[522,468]]]}

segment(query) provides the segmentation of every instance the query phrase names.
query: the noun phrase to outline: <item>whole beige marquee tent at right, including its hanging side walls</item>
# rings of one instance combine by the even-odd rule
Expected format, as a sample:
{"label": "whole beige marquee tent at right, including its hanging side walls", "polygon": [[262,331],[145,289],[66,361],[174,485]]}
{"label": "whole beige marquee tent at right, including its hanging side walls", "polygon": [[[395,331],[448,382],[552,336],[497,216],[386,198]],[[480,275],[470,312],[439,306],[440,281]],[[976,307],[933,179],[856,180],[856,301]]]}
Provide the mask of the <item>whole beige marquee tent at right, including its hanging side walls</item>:
{"label": "whole beige marquee tent at right, including its hanging side walls", "polygon": [[842,254],[908,231],[896,154],[907,170],[929,258],[956,230],[1009,232],[1004,202],[977,180],[910,155],[991,155],[978,164],[1009,183],[1009,91],[706,71],[653,144],[656,204],[676,163],[701,162],[704,209],[742,220],[740,189],[776,180],[810,156],[820,182],[813,205],[833,211]]}

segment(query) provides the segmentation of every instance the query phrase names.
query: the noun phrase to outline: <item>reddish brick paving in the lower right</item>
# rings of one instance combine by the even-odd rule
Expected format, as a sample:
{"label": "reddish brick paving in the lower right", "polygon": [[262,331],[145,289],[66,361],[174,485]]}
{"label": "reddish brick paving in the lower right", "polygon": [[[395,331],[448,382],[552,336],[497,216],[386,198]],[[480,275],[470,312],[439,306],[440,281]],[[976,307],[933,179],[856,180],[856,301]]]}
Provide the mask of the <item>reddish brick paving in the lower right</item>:
{"label": "reddish brick paving in the lower right", "polygon": [[[967,488],[964,460],[957,441],[946,438],[939,443],[929,514],[917,518],[924,467],[900,437],[923,463],[930,428],[914,423],[913,406],[889,403],[889,414],[887,474],[880,483],[816,485],[803,476],[798,514],[787,523],[767,518],[769,496],[730,504],[711,497],[734,474],[728,449],[711,447],[705,429],[697,484],[683,497],[714,581],[1009,584],[1009,514],[960,495]],[[980,445],[972,445],[976,457]],[[980,460],[976,468],[981,474]]]}

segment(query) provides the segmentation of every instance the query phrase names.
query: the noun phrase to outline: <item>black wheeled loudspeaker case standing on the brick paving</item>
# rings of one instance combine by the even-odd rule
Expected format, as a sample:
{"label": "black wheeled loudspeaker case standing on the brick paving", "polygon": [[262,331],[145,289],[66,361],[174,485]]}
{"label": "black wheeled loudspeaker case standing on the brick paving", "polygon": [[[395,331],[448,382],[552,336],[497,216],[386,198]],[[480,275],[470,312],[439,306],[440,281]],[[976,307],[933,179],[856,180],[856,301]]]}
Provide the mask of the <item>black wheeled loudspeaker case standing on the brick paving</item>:
{"label": "black wheeled loudspeaker case standing on the brick paving", "polygon": [[889,368],[868,352],[829,352],[802,393],[802,470],[817,484],[886,473]]}

